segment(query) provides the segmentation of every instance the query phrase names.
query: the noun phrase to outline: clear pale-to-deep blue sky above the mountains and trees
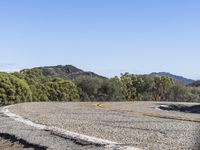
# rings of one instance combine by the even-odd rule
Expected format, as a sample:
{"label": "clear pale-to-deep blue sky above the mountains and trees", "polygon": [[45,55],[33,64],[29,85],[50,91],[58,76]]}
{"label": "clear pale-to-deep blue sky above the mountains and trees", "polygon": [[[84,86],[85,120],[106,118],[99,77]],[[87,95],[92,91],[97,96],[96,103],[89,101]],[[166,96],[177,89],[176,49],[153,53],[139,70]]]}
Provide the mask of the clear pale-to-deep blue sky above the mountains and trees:
{"label": "clear pale-to-deep blue sky above the mountains and trees", "polygon": [[200,79],[199,0],[1,0],[0,70],[72,64]]}

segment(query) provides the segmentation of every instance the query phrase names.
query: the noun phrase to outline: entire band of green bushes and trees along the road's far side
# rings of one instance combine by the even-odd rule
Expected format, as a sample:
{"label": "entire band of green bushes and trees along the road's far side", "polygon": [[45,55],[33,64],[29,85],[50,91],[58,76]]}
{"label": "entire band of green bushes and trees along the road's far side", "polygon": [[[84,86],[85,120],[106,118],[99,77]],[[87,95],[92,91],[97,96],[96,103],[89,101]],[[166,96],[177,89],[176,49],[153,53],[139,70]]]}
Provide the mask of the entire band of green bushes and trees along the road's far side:
{"label": "entire band of green bushes and trees along the road's far side", "polygon": [[184,101],[200,102],[198,84],[183,85],[167,76],[121,74],[103,79],[69,80],[45,76],[41,69],[0,73],[0,105],[29,101]]}

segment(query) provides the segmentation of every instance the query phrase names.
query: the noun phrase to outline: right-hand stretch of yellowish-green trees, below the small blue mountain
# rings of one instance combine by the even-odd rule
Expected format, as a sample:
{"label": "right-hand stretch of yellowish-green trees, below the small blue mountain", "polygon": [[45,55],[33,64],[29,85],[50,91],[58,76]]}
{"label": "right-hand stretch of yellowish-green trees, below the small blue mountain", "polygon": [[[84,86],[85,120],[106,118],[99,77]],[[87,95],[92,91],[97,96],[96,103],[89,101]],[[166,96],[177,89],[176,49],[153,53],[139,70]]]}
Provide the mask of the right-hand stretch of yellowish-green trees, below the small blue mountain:
{"label": "right-hand stretch of yellowish-green trees, below the small blue mountain", "polygon": [[200,101],[200,89],[186,87],[167,76],[141,76],[129,73],[120,77],[126,100]]}

